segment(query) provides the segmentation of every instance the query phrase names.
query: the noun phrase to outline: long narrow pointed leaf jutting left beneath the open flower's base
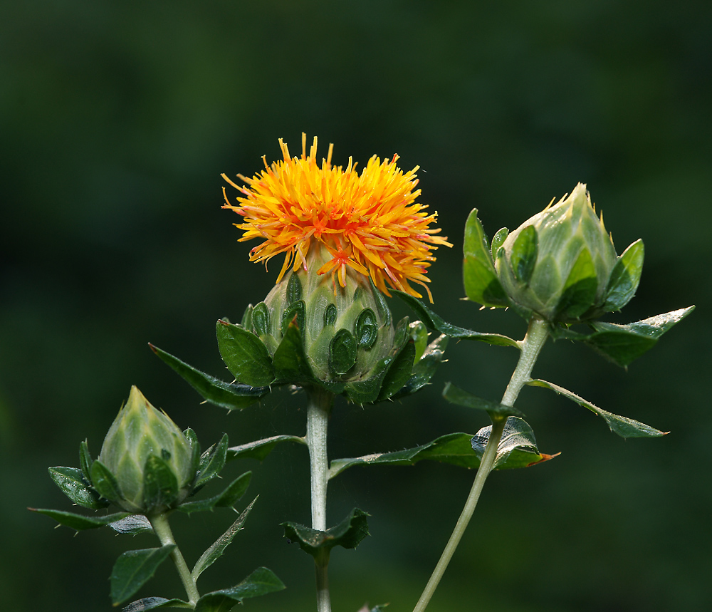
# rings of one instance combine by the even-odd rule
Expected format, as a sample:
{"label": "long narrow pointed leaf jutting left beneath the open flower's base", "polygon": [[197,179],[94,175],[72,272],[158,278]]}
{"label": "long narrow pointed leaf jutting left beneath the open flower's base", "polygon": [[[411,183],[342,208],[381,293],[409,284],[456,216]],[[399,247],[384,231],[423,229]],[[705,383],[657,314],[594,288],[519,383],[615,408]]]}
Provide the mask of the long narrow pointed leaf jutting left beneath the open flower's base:
{"label": "long narrow pointed leaf jutting left beneath the open flower's base", "polygon": [[241,385],[239,383],[225,383],[223,380],[196,370],[192,365],[180,361],[179,358],[162,351],[157,346],[152,344],[149,344],[149,346],[162,361],[173,368],[204,400],[221,408],[242,410],[256,403],[259,398],[269,391],[268,387],[251,387],[250,385]]}

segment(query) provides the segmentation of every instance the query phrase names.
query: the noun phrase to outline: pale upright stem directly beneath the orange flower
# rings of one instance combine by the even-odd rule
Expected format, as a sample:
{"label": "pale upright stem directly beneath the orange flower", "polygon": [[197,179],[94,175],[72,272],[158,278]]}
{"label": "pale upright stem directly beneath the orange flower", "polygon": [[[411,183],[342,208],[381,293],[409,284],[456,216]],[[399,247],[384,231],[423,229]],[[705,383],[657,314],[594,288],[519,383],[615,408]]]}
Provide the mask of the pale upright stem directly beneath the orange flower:
{"label": "pale upright stem directly beneath the orange flower", "polygon": [[[312,529],[326,531],[326,489],[329,482],[329,460],[326,448],[329,415],[334,403],[333,393],[312,388],[308,391],[307,435],[311,473]],[[314,558],[316,571],[316,601],[318,612],[331,612],[329,596],[329,554]]]}

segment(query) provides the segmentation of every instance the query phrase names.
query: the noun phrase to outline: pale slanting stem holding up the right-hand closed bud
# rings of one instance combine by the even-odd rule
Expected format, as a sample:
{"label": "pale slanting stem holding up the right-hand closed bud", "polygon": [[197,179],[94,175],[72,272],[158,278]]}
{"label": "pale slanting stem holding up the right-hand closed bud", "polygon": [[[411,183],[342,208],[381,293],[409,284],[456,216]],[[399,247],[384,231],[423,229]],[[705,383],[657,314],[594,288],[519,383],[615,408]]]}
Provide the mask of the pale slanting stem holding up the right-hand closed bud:
{"label": "pale slanting stem holding up the right-hand closed bud", "polygon": [[[527,335],[522,341],[520,341],[520,356],[517,362],[517,367],[512,374],[512,378],[509,380],[507,389],[504,392],[501,403],[506,406],[513,406],[518,398],[520,390],[522,387],[530,380],[530,374],[536,360],[539,356],[546,339],[549,336],[548,324],[545,321],[541,321],[538,318],[533,318],[529,322],[529,328],[527,330]],[[480,467],[478,467],[477,474],[475,475],[475,481],[472,483],[472,488],[470,489],[470,494],[465,502],[465,507],[462,509],[460,518],[455,525],[455,529],[445,546],[445,549],[440,556],[438,564],[435,566],[433,574],[430,576],[428,584],[426,584],[423,594],[420,596],[418,603],[413,612],[423,612],[428,605],[435,589],[440,583],[445,570],[452,559],[455,549],[457,548],[460,540],[462,539],[467,524],[472,518],[473,512],[475,512],[475,507],[480,499],[480,494],[482,492],[482,487],[485,481],[494,467],[494,462],[497,457],[497,449],[499,442],[502,439],[502,432],[504,431],[504,425],[506,423],[506,418],[495,417],[492,420],[492,431],[490,433],[489,440],[485,447],[485,450],[480,461]]]}

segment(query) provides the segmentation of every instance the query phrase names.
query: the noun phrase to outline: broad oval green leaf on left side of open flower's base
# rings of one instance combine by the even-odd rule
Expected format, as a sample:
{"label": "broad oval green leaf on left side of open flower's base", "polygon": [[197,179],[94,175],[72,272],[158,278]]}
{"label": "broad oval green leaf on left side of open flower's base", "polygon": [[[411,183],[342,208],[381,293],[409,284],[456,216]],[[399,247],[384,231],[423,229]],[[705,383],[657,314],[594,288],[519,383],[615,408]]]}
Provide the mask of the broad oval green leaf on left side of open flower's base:
{"label": "broad oval green leaf on left side of open flower's base", "polygon": [[274,380],[274,368],[267,347],[245,328],[218,321],[215,326],[218,349],[227,369],[241,383],[263,387]]}

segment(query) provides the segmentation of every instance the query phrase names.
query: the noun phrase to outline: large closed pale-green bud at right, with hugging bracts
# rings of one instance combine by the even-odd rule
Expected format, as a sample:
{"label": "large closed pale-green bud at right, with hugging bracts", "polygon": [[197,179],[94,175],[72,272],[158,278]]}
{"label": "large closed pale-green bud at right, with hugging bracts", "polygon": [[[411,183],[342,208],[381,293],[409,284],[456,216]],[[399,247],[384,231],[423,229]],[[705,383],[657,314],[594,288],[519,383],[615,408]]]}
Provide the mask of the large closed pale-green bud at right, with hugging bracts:
{"label": "large closed pale-green bud at right, with hugging bracts", "polygon": [[618,310],[632,298],[642,242],[621,257],[597,217],[586,186],[493,239],[501,285],[514,306],[553,323],[574,323]]}

